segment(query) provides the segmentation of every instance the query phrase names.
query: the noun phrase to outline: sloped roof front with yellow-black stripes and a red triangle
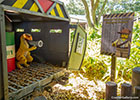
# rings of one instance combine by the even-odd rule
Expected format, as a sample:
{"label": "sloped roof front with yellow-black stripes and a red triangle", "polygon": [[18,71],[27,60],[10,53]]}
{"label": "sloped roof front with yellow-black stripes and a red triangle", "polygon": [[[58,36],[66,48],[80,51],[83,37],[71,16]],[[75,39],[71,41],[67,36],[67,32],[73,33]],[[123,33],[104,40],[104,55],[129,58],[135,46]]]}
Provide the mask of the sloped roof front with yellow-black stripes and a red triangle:
{"label": "sloped roof front with yellow-black stripes and a red triangle", "polygon": [[[52,19],[69,21],[69,16],[64,4],[57,0],[4,0],[0,1],[0,4],[6,9],[11,7],[9,10],[17,8],[14,10],[26,10],[25,12],[31,11],[30,13],[36,12],[37,15],[40,15],[38,12],[41,12],[43,16],[50,17]],[[54,4],[56,5],[54,6]]]}

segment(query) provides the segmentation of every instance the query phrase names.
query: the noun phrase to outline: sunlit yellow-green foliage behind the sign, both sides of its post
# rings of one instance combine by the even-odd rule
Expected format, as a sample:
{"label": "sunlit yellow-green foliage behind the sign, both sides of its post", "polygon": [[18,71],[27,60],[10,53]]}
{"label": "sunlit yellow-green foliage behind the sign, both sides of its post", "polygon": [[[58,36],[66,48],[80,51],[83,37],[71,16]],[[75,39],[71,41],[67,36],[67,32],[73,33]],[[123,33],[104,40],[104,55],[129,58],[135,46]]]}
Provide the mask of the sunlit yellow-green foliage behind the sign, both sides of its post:
{"label": "sunlit yellow-green foliage behind the sign, both sides of its post", "polygon": [[[88,35],[86,56],[82,65],[82,71],[89,79],[110,79],[110,56],[100,55],[101,30],[99,32],[90,30]],[[97,34],[93,36],[93,34]],[[140,67],[140,24],[135,23],[133,27],[131,52],[129,59],[117,58],[116,81],[131,81],[132,69]]]}

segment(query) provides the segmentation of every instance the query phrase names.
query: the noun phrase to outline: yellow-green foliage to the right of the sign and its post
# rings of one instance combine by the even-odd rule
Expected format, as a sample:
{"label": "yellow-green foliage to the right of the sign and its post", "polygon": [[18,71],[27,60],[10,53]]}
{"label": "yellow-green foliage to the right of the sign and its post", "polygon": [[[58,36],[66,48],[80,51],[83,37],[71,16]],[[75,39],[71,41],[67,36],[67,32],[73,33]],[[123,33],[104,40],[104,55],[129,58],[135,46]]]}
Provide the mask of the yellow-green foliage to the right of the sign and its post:
{"label": "yellow-green foliage to the right of the sign and its post", "polygon": [[131,44],[131,52],[129,59],[118,59],[118,74],[117,78],[123,77],[125,80],[130,81],[132,78],[132,69],[140,67],[140,24],[135,23],[133,28],[133,38]]}

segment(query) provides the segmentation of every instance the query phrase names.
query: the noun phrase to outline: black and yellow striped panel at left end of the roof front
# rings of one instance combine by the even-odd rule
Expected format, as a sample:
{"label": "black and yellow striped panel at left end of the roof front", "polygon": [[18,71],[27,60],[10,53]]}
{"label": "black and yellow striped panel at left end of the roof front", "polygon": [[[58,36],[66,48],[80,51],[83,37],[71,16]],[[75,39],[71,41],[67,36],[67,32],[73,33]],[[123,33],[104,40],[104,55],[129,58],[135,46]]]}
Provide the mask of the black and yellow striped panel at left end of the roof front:
{"label": "black and yellow striped panel at left end of the roof front", "polygon": [[9,5],[15,8],[27,9],[30,11],[40,12],[39,7],[33,0],[4,0],[4,5]]}

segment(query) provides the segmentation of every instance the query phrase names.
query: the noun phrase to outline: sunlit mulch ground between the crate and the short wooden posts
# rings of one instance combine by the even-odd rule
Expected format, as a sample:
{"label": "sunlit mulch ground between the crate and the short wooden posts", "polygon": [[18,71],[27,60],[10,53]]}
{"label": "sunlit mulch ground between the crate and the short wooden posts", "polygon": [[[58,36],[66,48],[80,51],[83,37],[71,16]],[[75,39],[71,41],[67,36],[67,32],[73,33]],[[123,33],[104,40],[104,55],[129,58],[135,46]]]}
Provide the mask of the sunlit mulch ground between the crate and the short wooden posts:
{"label": "sunlit mulch ground between the crate and the short wooden posts", "polygon": [[65,98],[62,100],[104,100],[105,83],[97,80],[95,84],[94,81],[89,81],[82,74],[72,72],[66,84],[60,80],[53,86],[52,93]]}

